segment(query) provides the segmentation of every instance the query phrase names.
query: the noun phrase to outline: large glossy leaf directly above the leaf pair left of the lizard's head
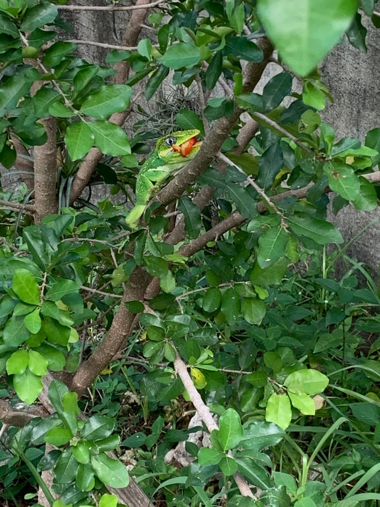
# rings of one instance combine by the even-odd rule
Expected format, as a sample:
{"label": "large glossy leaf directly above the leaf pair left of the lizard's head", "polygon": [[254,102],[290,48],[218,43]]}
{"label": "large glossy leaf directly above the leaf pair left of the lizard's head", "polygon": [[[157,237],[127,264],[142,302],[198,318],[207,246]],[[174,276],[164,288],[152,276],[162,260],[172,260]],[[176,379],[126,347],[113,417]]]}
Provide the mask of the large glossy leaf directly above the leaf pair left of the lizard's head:
{"label": "large glossy leaf directly above the leaf pair left of the lizard's head", "polygon": [[125,111],[129,106],[132,88],[127,85],[103,85],[83,101],[81,113],[94,118],[107,118]]}

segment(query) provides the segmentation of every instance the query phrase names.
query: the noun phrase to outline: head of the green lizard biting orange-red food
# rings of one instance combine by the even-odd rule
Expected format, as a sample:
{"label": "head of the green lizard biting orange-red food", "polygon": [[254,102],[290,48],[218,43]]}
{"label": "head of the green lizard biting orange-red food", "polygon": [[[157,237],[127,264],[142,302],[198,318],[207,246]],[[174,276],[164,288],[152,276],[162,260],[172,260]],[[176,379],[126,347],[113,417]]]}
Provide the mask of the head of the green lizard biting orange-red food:
{"label": "head of the green lizard biting orange-red food", "polygon": [[184,165],[196,156],[201,147],[198,134],[200,131],[197,129],[179,130],[161,137],[156,144],[158,156],[166,164]]}

